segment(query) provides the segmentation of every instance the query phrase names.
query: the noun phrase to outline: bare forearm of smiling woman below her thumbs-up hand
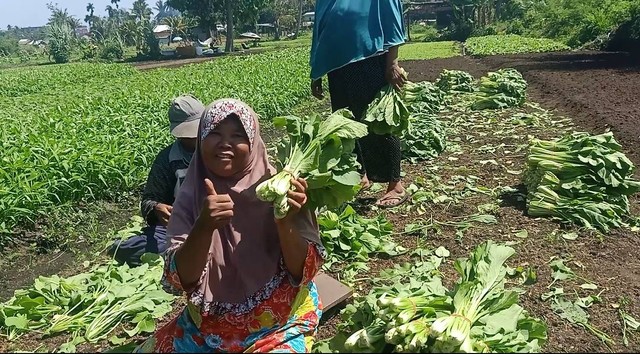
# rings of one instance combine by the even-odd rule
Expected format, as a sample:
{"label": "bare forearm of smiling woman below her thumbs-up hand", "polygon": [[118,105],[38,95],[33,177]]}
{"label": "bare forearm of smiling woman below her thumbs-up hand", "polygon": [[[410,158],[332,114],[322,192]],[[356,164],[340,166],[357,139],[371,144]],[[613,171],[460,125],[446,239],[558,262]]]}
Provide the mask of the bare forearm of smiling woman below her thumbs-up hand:
{"label": "bare forearm of smiling woman below her thumbs-up hand", "polygon": [[212,231],[196,222],[189,237],[176,251],[176,269],[183,289],[193,287],[200,280],[209,258],[212,234]]}

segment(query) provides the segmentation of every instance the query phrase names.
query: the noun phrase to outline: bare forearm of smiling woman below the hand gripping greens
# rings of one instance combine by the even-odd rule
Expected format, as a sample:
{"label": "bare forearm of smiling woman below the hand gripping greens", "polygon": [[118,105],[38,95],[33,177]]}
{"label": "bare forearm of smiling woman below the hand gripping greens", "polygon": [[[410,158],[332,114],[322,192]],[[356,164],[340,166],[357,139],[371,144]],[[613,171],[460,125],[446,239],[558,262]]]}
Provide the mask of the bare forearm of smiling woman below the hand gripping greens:
{"label": "bare forearm of smiling woman below the hand gripping greens", "polygon": [[296,281],[302,279],[309,243],[290,222],[277,223],[284,264]]}

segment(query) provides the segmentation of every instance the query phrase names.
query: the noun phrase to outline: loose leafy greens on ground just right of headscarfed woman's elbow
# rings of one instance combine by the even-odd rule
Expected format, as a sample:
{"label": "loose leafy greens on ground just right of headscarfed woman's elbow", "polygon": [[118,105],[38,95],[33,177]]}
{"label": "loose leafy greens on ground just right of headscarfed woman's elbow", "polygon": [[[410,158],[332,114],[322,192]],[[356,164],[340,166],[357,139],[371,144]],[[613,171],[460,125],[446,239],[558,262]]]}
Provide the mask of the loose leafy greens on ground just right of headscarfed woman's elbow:
{"label": "loose leafy greens on ground just right of headscarfed woman's elbow", "polygon": [[352,273],[360,265],[369,261],[371,254],[384,254],[396,256],[406,250],[397,245],[391,233],[393,225],[384,217],[367,219],[356,213],[347,206],[341,213],[324,211],[318,216],[318,225],[322,236],[322,245],[327,250],[329,258],[325,260],[324,268],[336,271],[337,267],[343,268],[340,273],[344,274],[346,268],[352,267]]}

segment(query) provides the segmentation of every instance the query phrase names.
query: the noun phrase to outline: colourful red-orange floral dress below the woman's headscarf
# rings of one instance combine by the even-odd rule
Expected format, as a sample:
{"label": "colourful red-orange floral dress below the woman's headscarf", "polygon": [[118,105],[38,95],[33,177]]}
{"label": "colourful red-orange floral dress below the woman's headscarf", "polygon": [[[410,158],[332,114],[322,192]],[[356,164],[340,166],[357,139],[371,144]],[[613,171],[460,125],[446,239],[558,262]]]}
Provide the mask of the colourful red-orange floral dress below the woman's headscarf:
{"label": "colourful red-orange floral dress below the woman's headscarf", "polygon": [[[183,291],[175,250],[165,256],[163,281]],[[310,243],[302,280],[296,284],[280,262],[280,271],[243,304],[202,303],[189,294],[182,313],[136,348],[136,353],[305,353],[311,350],[322,304],[313,281],[324,250]]]}

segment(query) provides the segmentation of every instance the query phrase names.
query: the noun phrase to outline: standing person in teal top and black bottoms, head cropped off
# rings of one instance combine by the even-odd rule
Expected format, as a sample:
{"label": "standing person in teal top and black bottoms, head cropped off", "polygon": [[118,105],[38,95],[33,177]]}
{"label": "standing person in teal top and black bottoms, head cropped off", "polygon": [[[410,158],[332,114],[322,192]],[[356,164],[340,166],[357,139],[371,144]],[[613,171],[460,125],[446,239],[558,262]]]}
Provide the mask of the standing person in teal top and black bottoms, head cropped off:
{"label": "standing person in teal top and black bottoms, head cropped off", "polygon": [[[311,90],[323,97],[327,75],[332,109],[349,108],[362,120],[367,106],[387,84],[400,89],[405,78],[398,65],[398,48],[405,42],[401,0],[317,0],[311,46]],[[407,199],[400,180],[400,140],[369,134],[356,151],[363,169],[362,188],[388,183],[376,201],[395,207]]]}

